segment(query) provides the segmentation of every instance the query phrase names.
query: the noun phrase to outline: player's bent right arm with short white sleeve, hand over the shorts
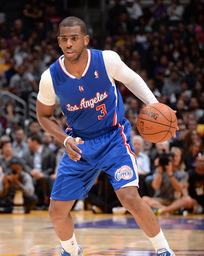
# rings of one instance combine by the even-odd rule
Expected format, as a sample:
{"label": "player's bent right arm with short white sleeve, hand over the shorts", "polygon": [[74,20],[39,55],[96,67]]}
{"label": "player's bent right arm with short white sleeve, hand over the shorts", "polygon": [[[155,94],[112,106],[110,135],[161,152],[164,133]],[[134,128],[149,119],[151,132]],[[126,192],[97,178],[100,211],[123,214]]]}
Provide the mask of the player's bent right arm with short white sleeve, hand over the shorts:
{"label": "player's bent right arm with short white sleeve, hand over the shorts", "polygon": [[[61,129],[56,121],[56,118],[53,116],[55,100],[56,94],[54,93],[50,73],[49,71],[45,71],[41,77],[40,90],[37,96],[37,119],[45,131],[64,144],[67,134]],[[84,142],[80,140],[79,143],[83,144]],[[82,153],[82,151],[76,146],[75,138],[69,138],[66,141],[65,146],[67,155],[70,159],[74,160],[75,162],[80,159],[81,156],[78,154],[78,152]]]}

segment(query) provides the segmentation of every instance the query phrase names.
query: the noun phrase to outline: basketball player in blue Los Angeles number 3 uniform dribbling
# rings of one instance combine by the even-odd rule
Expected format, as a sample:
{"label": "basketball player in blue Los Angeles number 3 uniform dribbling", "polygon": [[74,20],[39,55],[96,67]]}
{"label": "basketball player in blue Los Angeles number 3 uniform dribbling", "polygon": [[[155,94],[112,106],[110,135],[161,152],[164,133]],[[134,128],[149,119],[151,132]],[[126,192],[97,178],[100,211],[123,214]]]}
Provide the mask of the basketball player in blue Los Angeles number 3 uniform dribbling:
{"label": "basketball player in blue Los Angeles number 3 uniform dribbling", "polygon": [[[66,146],[49,207],[61,255],[83,255],[70,210],[76,199],[87,197],[101,169],[107,172],[121,204],[147,234],[157,255],[175,255],[154,212],[139,197],[131,127],[124,118],[124,104],[114,80],[124,83],[145,104],[158,101],[117,53],[87,49],[88,42],[82,20],[71,16],[62,20],[58,44],[63,55],[42,74],[37,96],[40,125]],[[53,117],[56,96],[66,116],[66,133]]]}

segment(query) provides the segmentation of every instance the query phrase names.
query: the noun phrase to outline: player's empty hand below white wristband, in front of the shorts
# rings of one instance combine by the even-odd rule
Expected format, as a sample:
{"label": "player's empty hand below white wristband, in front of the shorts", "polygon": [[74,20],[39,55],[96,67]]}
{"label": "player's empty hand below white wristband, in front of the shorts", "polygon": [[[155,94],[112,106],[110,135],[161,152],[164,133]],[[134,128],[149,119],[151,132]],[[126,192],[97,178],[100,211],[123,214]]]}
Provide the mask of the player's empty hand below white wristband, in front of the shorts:
{"label": "player's empty hand below white wristband, in front of the shorts", "polygon": [[[80,160],[81,155],[78,154],[82,153],[82,150],[80,150],[80,148],[78,148],[76,145],[78,144],[83,144],[84,141],[82,141],[81,138],[78,139],[79,143],[76,143],[76,138],[69,138],[66,142],[66,152],[67,155],[69,156],[69,158],[75,162],[77,162],[77,160]],[[77,152],[76,152],[76,151]]]}

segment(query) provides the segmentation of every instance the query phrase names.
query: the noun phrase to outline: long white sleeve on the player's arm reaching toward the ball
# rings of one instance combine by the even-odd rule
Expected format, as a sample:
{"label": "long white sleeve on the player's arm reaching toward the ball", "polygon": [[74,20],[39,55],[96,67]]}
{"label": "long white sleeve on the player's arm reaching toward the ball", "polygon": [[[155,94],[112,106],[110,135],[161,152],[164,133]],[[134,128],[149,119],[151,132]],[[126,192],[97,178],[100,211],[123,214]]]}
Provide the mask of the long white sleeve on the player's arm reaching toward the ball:
{"label": "long white sleeve on the player's arm reaching toward the ball", "polygon": [[132,71],[113,51],[103,51],[105,68],[110,80],[122,82],[135,96],[146,105],[156,103],[154,94],[146,85],[145,81]]}

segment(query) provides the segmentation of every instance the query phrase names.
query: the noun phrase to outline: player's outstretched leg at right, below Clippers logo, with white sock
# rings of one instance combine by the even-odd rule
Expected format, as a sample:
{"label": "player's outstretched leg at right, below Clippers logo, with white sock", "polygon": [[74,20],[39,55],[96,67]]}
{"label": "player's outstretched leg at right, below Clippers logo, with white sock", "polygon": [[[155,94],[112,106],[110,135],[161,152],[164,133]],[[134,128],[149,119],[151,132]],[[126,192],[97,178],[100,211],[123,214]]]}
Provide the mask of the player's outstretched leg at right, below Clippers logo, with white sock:
{"label": "player's outstretched leg at right, below Clippers logo, with white sock", "polygon": [[138,194],[137,187],[124,187],[116,190],[121,204],[134,217],[139,227],[146,233],[157,255],[166,253],[167,256],[175,256],[169,248],[168,242],[160,229],[158,220],[151,208],[145,203]]}

